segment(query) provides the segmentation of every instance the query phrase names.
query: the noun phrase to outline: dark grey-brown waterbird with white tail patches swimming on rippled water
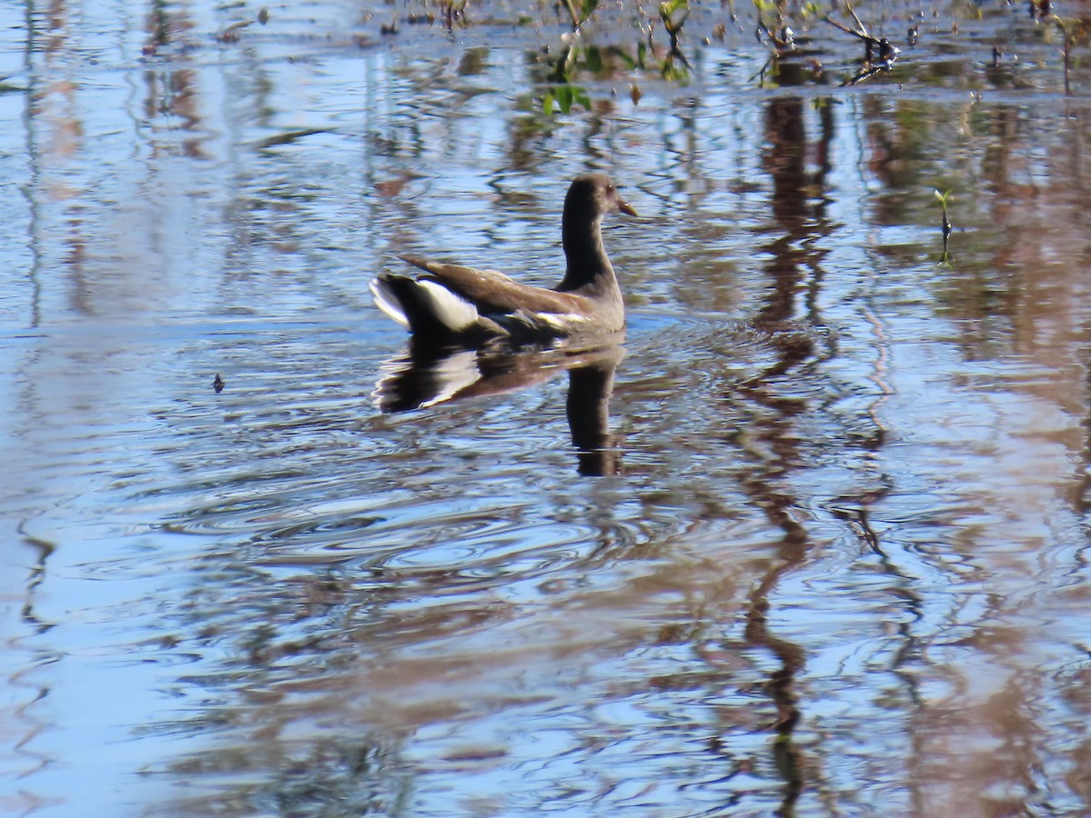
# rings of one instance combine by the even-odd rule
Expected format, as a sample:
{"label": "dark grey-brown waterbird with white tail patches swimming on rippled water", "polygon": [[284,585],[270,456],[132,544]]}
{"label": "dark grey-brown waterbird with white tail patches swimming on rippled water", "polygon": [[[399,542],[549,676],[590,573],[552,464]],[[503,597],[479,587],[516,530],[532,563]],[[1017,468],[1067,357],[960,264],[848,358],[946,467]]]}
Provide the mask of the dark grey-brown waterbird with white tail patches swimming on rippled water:
{"label": "dark grey-brown waterbird with white tail patches swimming on rippled water", "polygon": [[514,340],[613,333],[625,305],[602,246],[602,218],[636,216],[604,173],[576,177],[564,197],[561,236],[567,267],[555,289],[520,284],[493,269],[404,255],[424,270],[383,274],[371,282],[379,309],[415,336]]}

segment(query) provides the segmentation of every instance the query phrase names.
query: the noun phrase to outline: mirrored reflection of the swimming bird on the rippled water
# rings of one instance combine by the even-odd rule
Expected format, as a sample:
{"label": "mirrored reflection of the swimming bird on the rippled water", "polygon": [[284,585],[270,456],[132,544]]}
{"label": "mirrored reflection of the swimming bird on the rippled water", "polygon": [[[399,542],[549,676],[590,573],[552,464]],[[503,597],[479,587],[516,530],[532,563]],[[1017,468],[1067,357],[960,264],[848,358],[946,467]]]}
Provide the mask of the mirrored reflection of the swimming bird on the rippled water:
{"label": "mirrored reflection of the swimming bird on the rippled water", "polygon": [[568,373],[565,413],[580,474],[621,473],[621,452],[610,434],[614,371],[624,358],[623,334],[588,346],[571,341],[549,348],[437,347],[410,339],[408,348],[382,365],[372,397],[383,412],[413,409],[485,395],[502,395]]}

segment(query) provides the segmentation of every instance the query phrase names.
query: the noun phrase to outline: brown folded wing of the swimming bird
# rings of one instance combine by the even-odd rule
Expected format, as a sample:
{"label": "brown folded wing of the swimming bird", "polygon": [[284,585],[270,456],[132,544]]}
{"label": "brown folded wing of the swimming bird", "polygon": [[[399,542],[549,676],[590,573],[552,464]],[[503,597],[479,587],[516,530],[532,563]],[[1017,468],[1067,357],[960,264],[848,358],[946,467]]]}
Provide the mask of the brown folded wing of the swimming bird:
{"label": "brown folded wing of the swimming bird", "polygon": [[436,280],[471,301],[482,313],[587,314],[587,300],[583,296],[519,284],[494,269],[431,262],[412,255],[404,255],[401,260],[432,274]]}

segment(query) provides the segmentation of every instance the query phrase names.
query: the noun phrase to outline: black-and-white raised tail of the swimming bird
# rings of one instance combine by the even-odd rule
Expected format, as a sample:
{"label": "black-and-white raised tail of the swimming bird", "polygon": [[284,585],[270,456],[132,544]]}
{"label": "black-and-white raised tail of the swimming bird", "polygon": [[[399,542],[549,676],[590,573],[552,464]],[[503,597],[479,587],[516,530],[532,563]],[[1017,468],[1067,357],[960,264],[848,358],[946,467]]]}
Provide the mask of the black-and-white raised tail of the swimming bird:
{"label": "black-and-white raised tail of the swimming bird", "polygon": [[458,335],[478,323],[477,308],[439,281],[381,275],[371,282],[375,304],[415,335]]}

